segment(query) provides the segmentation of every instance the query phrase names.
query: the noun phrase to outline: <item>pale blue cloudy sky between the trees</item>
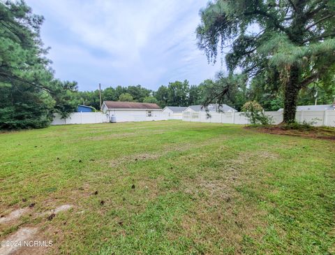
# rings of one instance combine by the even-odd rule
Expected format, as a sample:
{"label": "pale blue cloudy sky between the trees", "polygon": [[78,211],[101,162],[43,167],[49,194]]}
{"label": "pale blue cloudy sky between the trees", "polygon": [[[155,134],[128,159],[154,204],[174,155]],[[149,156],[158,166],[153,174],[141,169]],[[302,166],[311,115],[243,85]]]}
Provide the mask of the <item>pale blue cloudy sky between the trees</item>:
{"label": "pale blue cloudy sky between the trees", "polygon": [[55,77],[80,90],[142,85],[156,90],[175,80],[198,85],[221,64],[197,46],[200,8],[208,0],[26,0],[45,17]]}

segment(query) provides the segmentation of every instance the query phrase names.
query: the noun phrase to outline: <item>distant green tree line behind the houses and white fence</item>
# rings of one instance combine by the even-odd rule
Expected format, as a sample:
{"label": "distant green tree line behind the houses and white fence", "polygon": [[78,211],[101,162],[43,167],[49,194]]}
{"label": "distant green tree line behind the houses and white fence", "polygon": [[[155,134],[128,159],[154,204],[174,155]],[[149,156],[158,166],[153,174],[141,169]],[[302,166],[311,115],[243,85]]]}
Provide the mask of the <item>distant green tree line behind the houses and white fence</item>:
{"label": "distant green tree line behind the houses and white fence", "polygon": [[[188,80],[169,82],[168,85],[161,85],[156,91],[137,86],[128,87],[107,87],[101,90],[103,101],[133,101],[140,103],[157,103],[161,108],[170,106],[188,106],[206,104],[213,95],[222,92],[229,86],[229,91],[225,92],[221,103],[230,105],[232,108],[241,110],[247,101],[258,101],[265,110],[276,111],[284,107],[283,91],[274,91],[271,87],[248,86],[244,75],[226,77],[222,73],[216,75],[216,79],[207,79],[199,85],[190,85]],[[298,98],[298,105],[313,105],[315,94],[318,104],[332,103],[335,87],[325,87],[315,82],[301,90]],[[100,109],[99,90],[77,91],[74,93],[75,104],[89,105],[96,110]],[[211,101],[214,103],[215,101]]]}

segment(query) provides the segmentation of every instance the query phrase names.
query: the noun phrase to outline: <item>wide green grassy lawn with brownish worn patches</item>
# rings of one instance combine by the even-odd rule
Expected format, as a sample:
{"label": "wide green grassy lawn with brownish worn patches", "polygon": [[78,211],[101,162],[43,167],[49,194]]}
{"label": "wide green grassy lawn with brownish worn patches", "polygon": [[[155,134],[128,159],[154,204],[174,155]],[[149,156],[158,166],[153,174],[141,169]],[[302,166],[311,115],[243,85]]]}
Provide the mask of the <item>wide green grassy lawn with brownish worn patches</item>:
{"label": "wide green grassy lawn with brownish worn patches", "polygon": [[334,152],[179,121],[0,133],[0,214],[35,203],[0,240],[36,226],[50,254],[334,254]]}

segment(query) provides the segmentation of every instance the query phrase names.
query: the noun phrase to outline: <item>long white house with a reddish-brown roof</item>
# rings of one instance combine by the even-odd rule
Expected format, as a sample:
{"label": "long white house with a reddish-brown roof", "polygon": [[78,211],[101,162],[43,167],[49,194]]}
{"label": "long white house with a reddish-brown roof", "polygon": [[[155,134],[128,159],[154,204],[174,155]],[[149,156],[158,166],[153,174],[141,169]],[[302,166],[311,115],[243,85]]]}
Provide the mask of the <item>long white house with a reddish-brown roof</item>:
{"label": "long white house with a reddish-brown roof", "polygon": [[163,120],[162,109],[156,103],[103,101],[101,110],[113,122]]}

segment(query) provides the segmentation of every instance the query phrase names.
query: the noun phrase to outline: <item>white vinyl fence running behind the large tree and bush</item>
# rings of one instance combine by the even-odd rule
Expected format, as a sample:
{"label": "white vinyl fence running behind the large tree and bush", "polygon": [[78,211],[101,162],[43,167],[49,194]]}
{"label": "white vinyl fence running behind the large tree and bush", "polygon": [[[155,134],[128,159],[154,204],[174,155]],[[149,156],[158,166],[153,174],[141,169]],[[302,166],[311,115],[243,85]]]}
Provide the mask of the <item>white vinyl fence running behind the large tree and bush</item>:
{"label": "white vinyl fence running behind the large tree and bush", "polygon": [[[183,121],[186,122],[211,122],[226,124],[249,124],[243,112],[210,112],[211,117],[207,117],[207,112],[183,112]],[[283,112],[265,112],[271,116],[274,124],[283,122]],[[299,111],[295,115],[297,122],[313,123],[313,126],[335,126],[334,110]]]}

